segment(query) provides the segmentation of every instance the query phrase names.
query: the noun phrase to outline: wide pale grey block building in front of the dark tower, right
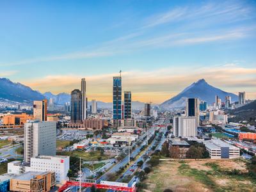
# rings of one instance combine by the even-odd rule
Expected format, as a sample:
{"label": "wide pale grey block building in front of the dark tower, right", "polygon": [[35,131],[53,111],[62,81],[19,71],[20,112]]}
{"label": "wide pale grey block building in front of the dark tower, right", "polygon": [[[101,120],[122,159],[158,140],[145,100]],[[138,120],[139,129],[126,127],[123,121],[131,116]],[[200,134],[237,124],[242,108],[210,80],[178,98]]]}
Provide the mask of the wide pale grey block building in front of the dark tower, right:
{"label": "wide pale grey block building in front of the dark tower, right", "polygon": [[197,135],[196,116],[174,116],[173,135],[175,137],[190,137]]}

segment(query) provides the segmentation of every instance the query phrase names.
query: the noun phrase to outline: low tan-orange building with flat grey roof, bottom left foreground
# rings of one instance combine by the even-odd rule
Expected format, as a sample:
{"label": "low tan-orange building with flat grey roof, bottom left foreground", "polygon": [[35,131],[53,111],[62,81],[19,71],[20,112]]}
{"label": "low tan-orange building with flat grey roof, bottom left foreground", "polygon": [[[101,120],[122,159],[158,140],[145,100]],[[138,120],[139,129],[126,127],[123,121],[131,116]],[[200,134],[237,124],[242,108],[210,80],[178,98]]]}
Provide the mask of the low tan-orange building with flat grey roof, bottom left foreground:
{"label": "low tan-orange building with flat grey roof, bottom left foreground", "polygon": [[50,191],[56,184],[54,172],[27,172],[10,179],[10,191]]}

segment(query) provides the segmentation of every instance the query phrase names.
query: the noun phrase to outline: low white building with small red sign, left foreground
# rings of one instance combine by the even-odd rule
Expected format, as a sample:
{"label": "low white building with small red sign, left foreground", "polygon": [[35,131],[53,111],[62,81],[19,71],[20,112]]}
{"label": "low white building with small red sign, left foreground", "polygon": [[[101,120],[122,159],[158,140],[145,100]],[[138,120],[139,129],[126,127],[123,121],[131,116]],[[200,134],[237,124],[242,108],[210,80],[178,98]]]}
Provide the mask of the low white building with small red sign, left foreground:
{"label": "low white building with small red sign, left foreground", "polygon": [[22,165],[21,161],[8,163],[8,173],[22,174],[26,172],[55,172],[56,182],[63,184],[67,180],[69,170],[68,156],[38,156],[32,157],[29,165]]}

